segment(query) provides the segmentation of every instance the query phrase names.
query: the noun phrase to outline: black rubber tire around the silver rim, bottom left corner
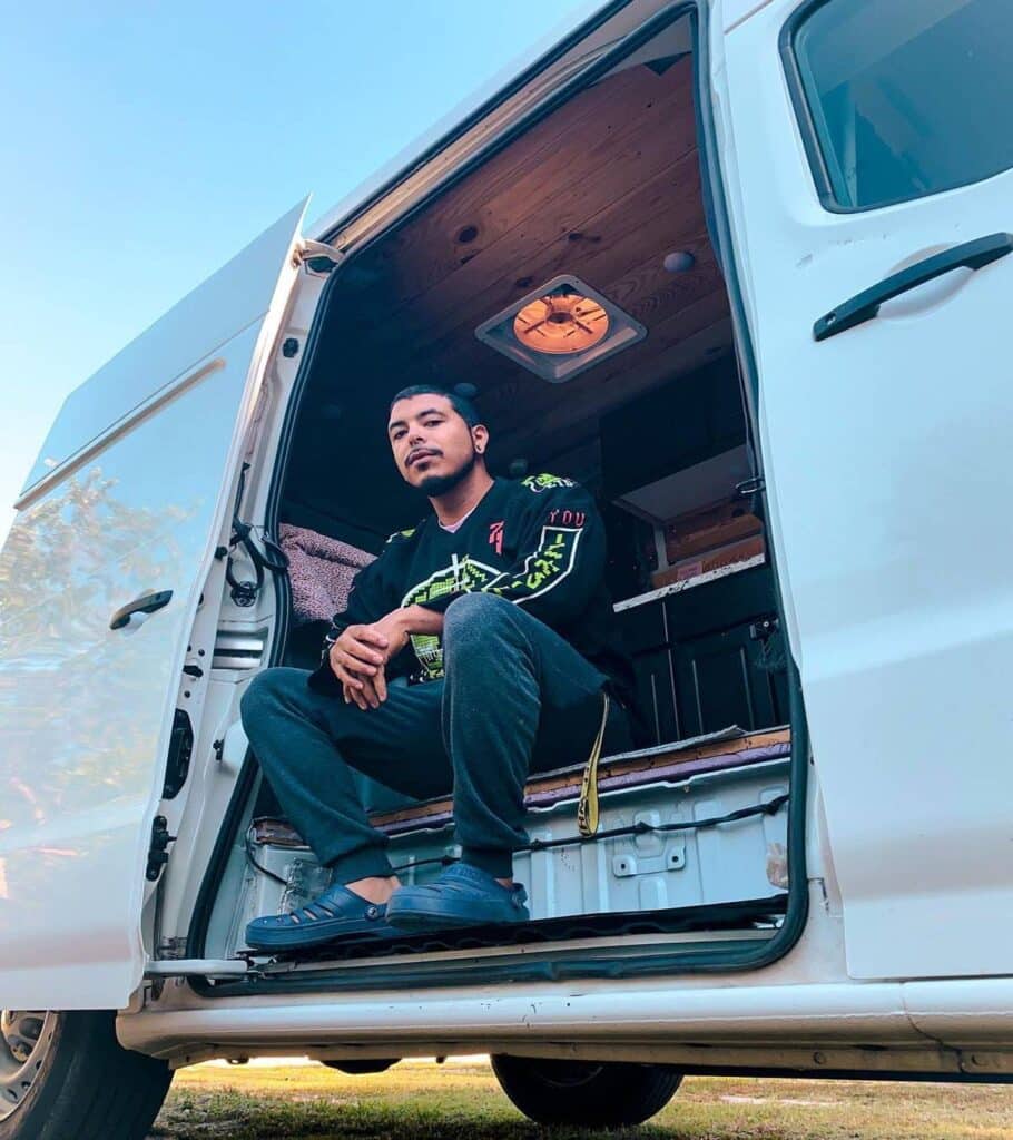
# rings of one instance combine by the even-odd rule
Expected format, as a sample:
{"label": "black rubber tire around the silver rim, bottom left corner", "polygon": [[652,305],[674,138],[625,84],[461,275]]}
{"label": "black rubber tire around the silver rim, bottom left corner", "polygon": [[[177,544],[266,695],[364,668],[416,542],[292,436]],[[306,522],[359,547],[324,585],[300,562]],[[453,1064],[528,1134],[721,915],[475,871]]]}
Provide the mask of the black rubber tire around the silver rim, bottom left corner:
{"label": "black rubber tire around the silver rim, bottom left corner", "polygon": [[111,1011],[56,1013],[51,1034],[0,1140],[144,1140],[172,1082],[168,1064],[124,1049]]}

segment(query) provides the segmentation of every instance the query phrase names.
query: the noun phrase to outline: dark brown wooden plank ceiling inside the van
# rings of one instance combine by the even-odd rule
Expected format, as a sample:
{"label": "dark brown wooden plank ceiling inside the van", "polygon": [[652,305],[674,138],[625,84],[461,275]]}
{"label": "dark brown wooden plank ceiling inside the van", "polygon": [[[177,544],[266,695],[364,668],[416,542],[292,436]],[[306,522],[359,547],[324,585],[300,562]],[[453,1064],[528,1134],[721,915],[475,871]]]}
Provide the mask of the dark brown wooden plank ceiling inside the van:
{"label": "dark brown wooden plank ceiling inside the van", "polygon": [[[296,463],[307,477],[325,440],[358,450],[368,432],[379,445],[384,401],[417,380],[476,385],[492,464],[504,470],[515,456],[544,464],[594,450],[602,413],[730,349],[703,219],[692,72],[684,56],[608,76],[350,263],[326,334],[330,378],[313,382]],[[678,250],[696,261],[673,275],[663,259]],[[647,337],[553,385],[474,331],[563,272],[636,317]],[[341,400],[337,373],[354,376],[356,400]],[[335,394],[344,407],[328,420]],[[393,494],[384,465],[378,447],[360,471]]]}

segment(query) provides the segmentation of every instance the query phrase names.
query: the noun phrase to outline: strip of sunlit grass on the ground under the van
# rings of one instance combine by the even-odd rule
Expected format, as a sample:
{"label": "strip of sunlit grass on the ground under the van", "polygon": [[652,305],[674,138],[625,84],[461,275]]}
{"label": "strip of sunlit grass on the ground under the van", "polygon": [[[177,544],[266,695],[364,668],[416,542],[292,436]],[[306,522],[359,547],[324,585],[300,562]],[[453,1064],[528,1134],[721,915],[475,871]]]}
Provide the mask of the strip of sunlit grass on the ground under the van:
{"label": "strip of sunlit grass on the ground under the van", "polygon": [[1013,1088],[691,1077],[629,1132],[549,1133],[481,1064],[399,1065],[370,1076],[322,1066],[177,1074],[157,1140],[1010,1140]]}

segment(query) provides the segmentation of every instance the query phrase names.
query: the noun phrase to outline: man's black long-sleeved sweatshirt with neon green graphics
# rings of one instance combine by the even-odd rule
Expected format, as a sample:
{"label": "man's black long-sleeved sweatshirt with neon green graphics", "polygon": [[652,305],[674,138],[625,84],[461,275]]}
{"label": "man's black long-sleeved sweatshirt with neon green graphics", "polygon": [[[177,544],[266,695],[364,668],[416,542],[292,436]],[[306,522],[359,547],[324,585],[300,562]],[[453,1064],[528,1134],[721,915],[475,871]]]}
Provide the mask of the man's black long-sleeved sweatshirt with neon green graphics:
{"label": "man's black long-sleeved sweatshirt with neon green graphics", "polygon": [[[379,557],[356,576],[346,609],[334,616],[311,685],[338,691],[327,651],[349,626],[378,621],[405,605],[443,612],[472,591],[523,605],[630,703],[631,668],[605,586],[605,528],[591,496],[558,475],[497,479],[454,534],[430,515],[412,530],[391,535]],[[387,667],[389,677],[399,674],[442,677],[441,638],[412,634],[411,650]]]}

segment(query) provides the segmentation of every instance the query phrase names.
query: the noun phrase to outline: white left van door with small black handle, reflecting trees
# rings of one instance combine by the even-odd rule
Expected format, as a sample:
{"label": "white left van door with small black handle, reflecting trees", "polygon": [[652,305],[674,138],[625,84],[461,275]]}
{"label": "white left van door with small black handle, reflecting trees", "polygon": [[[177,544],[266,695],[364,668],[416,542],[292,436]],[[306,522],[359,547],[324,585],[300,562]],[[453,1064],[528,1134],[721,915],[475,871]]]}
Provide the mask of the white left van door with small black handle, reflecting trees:
{"label": "white left van door with small black handle, reflecting trees", "polygon": [[141,979],[187,637],[296,280],[305,202],[66,400],[0,557],[0,1007]]}

